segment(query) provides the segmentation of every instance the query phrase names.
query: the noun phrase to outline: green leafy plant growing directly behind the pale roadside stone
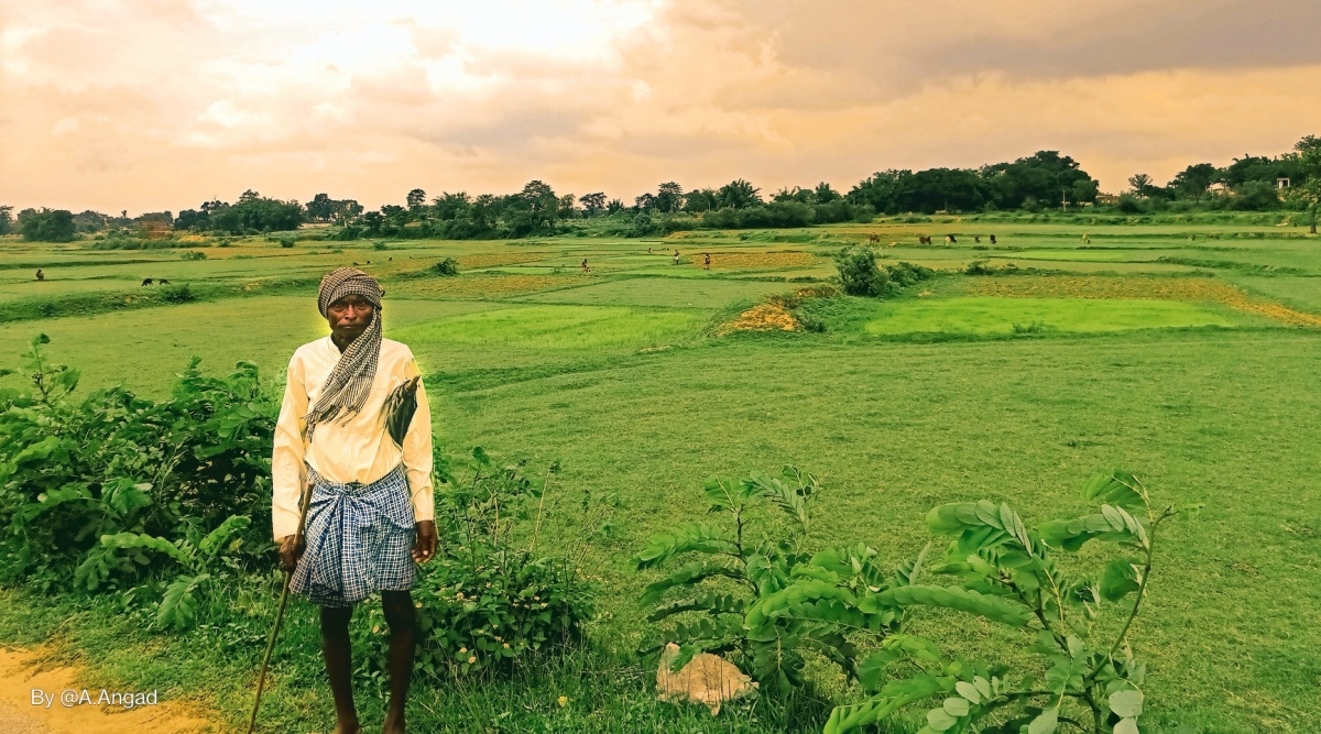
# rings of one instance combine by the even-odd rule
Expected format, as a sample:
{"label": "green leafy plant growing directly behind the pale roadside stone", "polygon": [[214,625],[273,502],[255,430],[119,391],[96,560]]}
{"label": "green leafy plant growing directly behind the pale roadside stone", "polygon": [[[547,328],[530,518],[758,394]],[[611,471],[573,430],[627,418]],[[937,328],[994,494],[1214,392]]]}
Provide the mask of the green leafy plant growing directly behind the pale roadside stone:
{"label": "green leafy plant growing directly behind the pale roadside stone", "polygon": [[919,564],[890,574],[865,545],[808,552],[818,481],[793,466],[782,477],[708,481],[709,512],[725,527],[680,525],[634,558],[638,569],[682,562],[641,599],[651,622],[666,623],[650,650],[679,644],[675,669],[700,652],[733,653],[764,689],[782,692],[803,684],[804,653],[856,675],[856,640],[898,630],[898,607],[878,594],[911,584]]}

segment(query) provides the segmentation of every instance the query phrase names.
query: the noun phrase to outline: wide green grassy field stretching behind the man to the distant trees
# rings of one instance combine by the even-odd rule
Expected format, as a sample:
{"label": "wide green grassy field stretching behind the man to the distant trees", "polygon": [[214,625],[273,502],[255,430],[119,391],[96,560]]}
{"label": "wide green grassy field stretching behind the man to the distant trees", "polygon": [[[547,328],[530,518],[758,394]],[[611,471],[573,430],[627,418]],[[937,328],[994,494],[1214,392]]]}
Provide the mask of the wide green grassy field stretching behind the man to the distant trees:
{"label": "wide green grassy field stretching behind the man to the distant trees", "polygon": [[[713,326],[760,298],[810,285],[787,279],[828,277],[828,256],[873,232],[882,261],[923,263],[942,275],[893,300],[841,301],[823,333],[716,335]],[[959,243],[915,244],[918,234],[939,242],[946,232]],[[991,232],[1001,250],[984,248]],[[1090,247],[1112,250],[1082,250],[1083,234]],[[675,247],[686,259],[679,265],[668,256]],[[1086,478],[1129,469],[1157,499],[1203,506],[1162,531],[1149,606],[1135,627],[1133,647],[1151,667],[1143,730],[1304,734],[1321,721],[1321,327],[1242,304],[1180,300],[1178,289],[1140,296],[1184,281],[1188,293],[1213,292],[1193,288],[1210,281],[1304,322],[1321,316],[1321,240],[1301,228],[948,219],[664,240],[388,242],[386,250],[248,240],[201,250],[210,259],[77,247],[52,253],[0,240],[0,304],[128,297],[147,290],[137,283],[148,276],[236,289],[189,304],[0,322],[8,346],[0,366],[46,333],[49,354],[81,368],[86,388],[124,382],[161,395],[190,355],[211,371],[252,360],[277,382],[293,349],[325,333],[314,286],[242,289],[358,261],[384,283],[386,335],[410,343],[427,372],[439,440],[454,450],[559,458],[567,495],[618,500],[614,535],[588,558],[608,590],[592,636],[613,651],[602,655],[620,656],[600,661],[609,673],[567,661],[490,692],[417,684],[410,716],[423,731],[810,730],[761,704],[716,719],[651,704],[654,661],[626,655],[647,630],[637,597],[649,581],[627,558],[651,533],[701,520],[708,475],[782,463],[824,482],[814,544],[865,541],[893,562],[926,543],[922,517],[935,504],[991,498],[1013,503],[1029,523],[1073,516],[1086,510],[1078,498]],[[704,271],[697,253],[707,250],[728,255],[725,263],[745,259]],[[787,252],[820,260],[804,265]],[[754,259],[769,253],[785,264]],[[473,265],[448,280],[410,275],[444,256]],[[580,273],[583,257],[592,275]],[[1115,292],[1123,296],[1032,297],[1028,286],[1041,277],[1033,275],[1000,279],[1024,284],[1024,297],[974,294],[974,279],[959,271],[985,257],[1122,284]],[[46,268],[45,283],[32,281],[34,267]],[[69,614],[4,594],[4,639],[33,642]],[[71,644],[96,669],[129,683],[176,681],[231,725],[246,721],[251,642],[198,650],[189,639],[114,632],[106,613],[78,614],[90,622]],[[968,655],[996,640],[933,635]],[[296,611],[288,639],[314,671],[309,610]],[[149,661],[124,663],[144,647],[156,651]],[[169,651],[190,651],[184,660],[193,663]],[[320,679],[280,679],[279,671],[275,721],[328,729],[333,714]],[[839,681],[822,685],[848,694]],[[573,705],[552,705],[560,692]],[[369,706],[379,710],[379,702]],[[514,709],[507,727],[490,723]]]}

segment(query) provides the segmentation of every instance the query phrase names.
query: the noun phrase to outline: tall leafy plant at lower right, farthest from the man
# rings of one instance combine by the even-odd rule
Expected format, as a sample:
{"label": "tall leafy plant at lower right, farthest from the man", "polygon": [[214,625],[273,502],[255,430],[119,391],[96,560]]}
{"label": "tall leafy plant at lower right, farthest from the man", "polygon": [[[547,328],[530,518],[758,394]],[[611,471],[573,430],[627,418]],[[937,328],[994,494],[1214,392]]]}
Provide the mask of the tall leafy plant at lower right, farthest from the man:
{"label": "tall leafy plant at lower right, farthest from the man", "polygon": [[[904,609],[942,607],[1018,630],[1024,648],[1005,657],[1018,661],[1025,652],[1036,653],[1037,671],[1016,673],[1007,661],[945,660],[927,642],[886,640],[859,663],[867,701],[838,706],[826,734],[864,730],[930,698],[938,705],[927,712],[923,734],[1135,734],[1145,664],[1133,656],[1128,632],[1151,580],[1155,532],[1178,511],[1153,507],[1147,487],[1125,471],[1087,482],[1083,496],[1099,503],[1100,512],[1036,528],[1008,504],[989,500],[934,508],[927,525],[954,540],[933,572],[962,585],[914,586],[888,598]],[[1091,540],[1116,545],[1122,556],[1099,574],[1065,573],[1055,554],[1077,552]],[[1118,631],[1098,623],[1111,610],[1123,619]]]}

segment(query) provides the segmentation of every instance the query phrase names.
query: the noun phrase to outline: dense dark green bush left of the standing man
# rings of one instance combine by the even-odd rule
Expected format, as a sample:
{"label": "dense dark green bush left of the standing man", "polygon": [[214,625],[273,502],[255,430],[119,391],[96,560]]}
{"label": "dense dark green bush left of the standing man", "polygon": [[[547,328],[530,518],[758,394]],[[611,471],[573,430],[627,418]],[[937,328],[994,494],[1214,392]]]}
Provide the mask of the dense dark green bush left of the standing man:
{"label": "dense dark green bush left of the standing man", "polygon": [[169,558],[94,561],[103,537],[188,539],[234,515],[251,527],[227,550],[254,560],[269,548],[280,404],[262,391],[256,366],[207,378],[194,359],[159,403],[122,387],[75,399],[79,374],[50,363],[49,342],[41,334],[22,355],[25,388],[0,389],[0,584],[132,585]]}

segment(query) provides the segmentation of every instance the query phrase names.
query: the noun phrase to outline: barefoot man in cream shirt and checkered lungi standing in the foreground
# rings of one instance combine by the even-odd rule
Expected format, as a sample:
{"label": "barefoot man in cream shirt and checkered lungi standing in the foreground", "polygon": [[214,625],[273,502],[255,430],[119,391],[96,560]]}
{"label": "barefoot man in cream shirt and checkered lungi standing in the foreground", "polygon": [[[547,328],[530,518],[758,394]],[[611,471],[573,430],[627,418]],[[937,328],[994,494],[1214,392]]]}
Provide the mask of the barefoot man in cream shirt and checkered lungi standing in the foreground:
{"label": "barefoot man in cream shirt and checkered lungi standing in the foreground", "polygon": [[[271,521],[289,589],[321,606],[321,650],[336,734],[362,731],[353,704],[349,619],[380,591],[390,624],[390,705],[383,731],[404,731],[416,610],[413,562],[436,554],[431,411],[407,346],[380,337],[380,285],[357,268],[321,279],[317,309],[330,335],[289,359],[271,459]],[[417,409],[403,445],[386,428],[386,399],[415,383]],[[305,544],[296,547],[299,498],[312,487]],[[410,557],[411,556],[411,557]]]}

